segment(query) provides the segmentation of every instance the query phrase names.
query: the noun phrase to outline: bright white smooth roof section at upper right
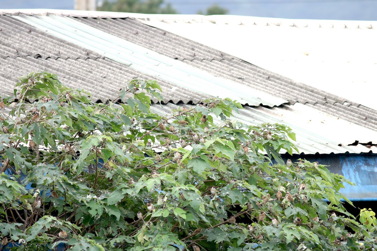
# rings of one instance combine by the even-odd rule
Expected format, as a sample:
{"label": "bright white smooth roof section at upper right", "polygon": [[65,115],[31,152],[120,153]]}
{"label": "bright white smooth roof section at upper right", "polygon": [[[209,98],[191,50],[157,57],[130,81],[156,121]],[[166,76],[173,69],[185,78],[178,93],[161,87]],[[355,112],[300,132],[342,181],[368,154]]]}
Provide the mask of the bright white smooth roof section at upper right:
{"label": "bright white smooth roof section at upper right", "polygon": [[377,21],[231,15],[138,20],[377,110],[374,94],[366,91],[377,78]]}

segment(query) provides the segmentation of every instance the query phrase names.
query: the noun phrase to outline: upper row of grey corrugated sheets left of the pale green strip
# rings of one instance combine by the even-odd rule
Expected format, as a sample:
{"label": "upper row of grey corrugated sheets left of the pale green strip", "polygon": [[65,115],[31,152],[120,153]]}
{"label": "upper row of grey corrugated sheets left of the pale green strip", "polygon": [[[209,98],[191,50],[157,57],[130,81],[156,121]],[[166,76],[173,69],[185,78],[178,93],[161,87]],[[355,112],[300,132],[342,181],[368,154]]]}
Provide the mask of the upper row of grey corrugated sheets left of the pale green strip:
{"label": "upper row of grey corrugated sheets left of the pale green strip", "polygon": [[[30,56],[35,56],[37,54],[40,54],[43,58],[88,58],[92,56],[92,58],[101,57],[101,55],[90,52],[89,55],[86,55],[86,53],[89,51],[83,47],[79,47],[73,43],[69,43],[66,41],[66,43],[59,43],[57,44],[58,38],[55,36],[52,36],[40,29],[36,29],[35,27],[26,24],[24,22],[21,22],[19,20],[16,20],[12,17],[6,17],[6,16],[0,16],[0,22],[2,24],[5,24],[7,27],[4,27],[3,32],[9,29],[6,35],[3,37],[3,40],[5,40],[7,37],[11,38],[12,43],[21,43],[21,46],[19,48],[19,51],[26,51]],[[20,27],[25,28],[25,30],[20,29]],[[32,32],[29,33],[28,30],[31,29]],[[17,34],[17,35],[14,35]],[[33,38],[33,40],[30,39],[30,37]],[[38,41],[38,43],[35,43],[35,41]],[[33,46],[34,44],[34,46]],[[37,49],[35,48],[35,44],[38,44]],[[81,49],[81,50],[80,50]],[[62,52],[68,50],[70,54],[58,54],[57,52]],[[31,53],[33,52],[33,53]]]}

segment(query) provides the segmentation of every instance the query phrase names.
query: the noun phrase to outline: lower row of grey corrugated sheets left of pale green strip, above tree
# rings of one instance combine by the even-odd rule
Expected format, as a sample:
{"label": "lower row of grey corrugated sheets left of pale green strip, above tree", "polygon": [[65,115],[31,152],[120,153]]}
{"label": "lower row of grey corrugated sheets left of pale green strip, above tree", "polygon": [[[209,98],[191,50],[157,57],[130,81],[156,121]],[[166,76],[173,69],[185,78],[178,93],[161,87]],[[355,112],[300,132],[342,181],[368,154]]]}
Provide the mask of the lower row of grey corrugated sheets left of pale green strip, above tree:
{"label": "lower row of grey corrugated sheets left of pale green strip, above tree", "polygon": [[[1,61],[0,61],[1,62]],[[107,63],[110,63],[110,65],[107,65]],[[9,79],[11,80],[9,86],[6,86],[6,91],[10,92],[13,90],[13,85],[17,82],[17,77],[25,75],[30,73],[31,71],[48,71],[54,74],[58,75],[58,78],[63,82],[65,85],[68,85],[71,88],[83,88],[86,91],[89,91],[93,98],[96,100],[101,100],[102,102],[106,102],[109,98],[114,98],[118,94],[118,90],[120,87],[124,87],[124,84],[129,81],[132,77],[136,77],[138,74],[140,76],[139,79],[154,79],[159,82],[159,84],[162,84],[162,90],[164,91],[162,93],[162,97],[164,98],[164,102],[169,102],[170,98],[172,98],[171,94],[164,95],[164,93],[173,93],[175,94],[173,96],[172,101],[173,102],[191,102],[192,96],[194,96],[194,99],[202,100],[205,97],[204,96],[198,96],[194,95],[181,95],[181,89],[176,87],[176,90],[172,90],[174,87],[172,84],[163,84],[161,82],[164,82],[162,79],[154,78],[152,76],[144,75],[143,73],[138,73],[132,68],[124,67],[123,64],[117,63],[118,67],[115,68],[113,65],[115,65],[115,62],[112,60],[109,60],[106,62],[104,59],[97,58],[96,61],[93,61],[93,59],[42,59],[38,58],[35,59],[33,57],[27,56],[25,58],[23,57],[17,57],[15,60],[5,60],[2,62],[2,66],[7,66],[7,70],[0,73],[0,75],[3,75],[4,72],[9,72]],[[110,73],[107,72],[107,74],[111,74],[111,78],[115,78],[119,80],[117,83],[101,83],[100,79],[103,79],[101,77],[101,70],[104,69],[104,66],[108,66],[110,69]],[[22,69],[22,72],[21,72]],[[86,70],[81,70],[86,69]],[[88,71],[91,69],[90,71]],[[127,78],[127,76],[129,78]],[[123,81],[122,81],[123,78]],[[94,79],[94,81],[93,81]],[[100,88],[100,92],[93,92],[93,86],[96,88]],[[110,88],[109,88],[110,86]],[[157,99],[152,99],[154,102],[157,102]]]}

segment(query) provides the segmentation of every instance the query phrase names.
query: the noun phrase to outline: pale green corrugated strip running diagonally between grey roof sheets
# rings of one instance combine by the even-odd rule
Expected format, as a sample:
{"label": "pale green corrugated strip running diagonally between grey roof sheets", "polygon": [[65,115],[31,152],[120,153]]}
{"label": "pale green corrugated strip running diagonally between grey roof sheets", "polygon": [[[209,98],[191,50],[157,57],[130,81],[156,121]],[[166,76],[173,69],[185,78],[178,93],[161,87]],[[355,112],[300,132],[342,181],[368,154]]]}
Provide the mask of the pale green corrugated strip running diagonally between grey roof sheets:
{"label": "pale green corrugated strip running diagonally between grey roof sheets", "polygon": [[[272,107],[288,103],[287,100],[213,76],[207,71],[183,64],[68,17],[20,14],[14,18],[138,71],[208,96],[229,97],[243,104],[254,106],[263,104]],[[215,89],[216,95],[213,93]]]}

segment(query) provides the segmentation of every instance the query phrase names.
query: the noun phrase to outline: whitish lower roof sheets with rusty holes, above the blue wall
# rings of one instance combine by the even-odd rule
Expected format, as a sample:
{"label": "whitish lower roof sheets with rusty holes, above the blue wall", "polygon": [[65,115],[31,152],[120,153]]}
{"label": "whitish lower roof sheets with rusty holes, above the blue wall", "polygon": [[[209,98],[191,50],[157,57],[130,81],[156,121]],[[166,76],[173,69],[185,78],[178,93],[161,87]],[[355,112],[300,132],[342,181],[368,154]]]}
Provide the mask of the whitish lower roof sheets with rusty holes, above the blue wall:
{"label": "whitish lower roof sheets with rusty holes, above the blue wall", "polygon": [[[188,105],[183,105],[189,108]],[[171,114],[178,105],[169,103],[166,105],[153,105],[151,110],[165,115]],[[289,126],[296,133],[294,144],[299,149],[299,154],[339,154],[373,152],[377,153],[375,146],[350,145],[355,140],[366,140],[365,128],[353,125],[345,120],[337,119],[329,114],[322,113],[308,106],[296,103],[295,105],[283,105],[281,107],[258,108],[245,107],[239,110],[239,114],[233,113],[234,118],[246,125],[260,125],[261,123],[279,123]],[[212,114],[212,116],[214,116]],[[232,119],[232,118],[231,118]],[[214,117],[214,122],[221,122]],[[329,130],[329,128],[336,128]],[[351,130],[354,133],[349,133]],[[377,137],[377,132],[367,130],[370,137]],[[281,151],[285,153],[285,151]]]}

